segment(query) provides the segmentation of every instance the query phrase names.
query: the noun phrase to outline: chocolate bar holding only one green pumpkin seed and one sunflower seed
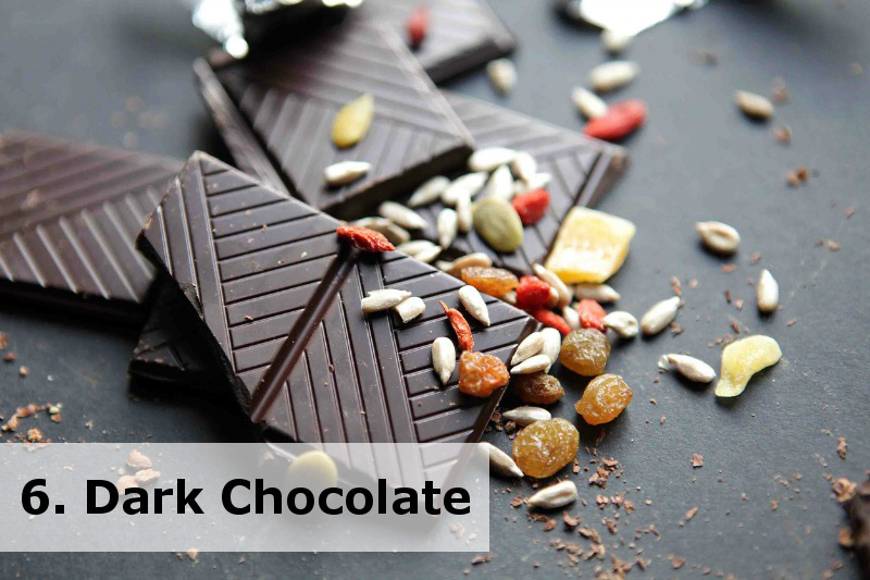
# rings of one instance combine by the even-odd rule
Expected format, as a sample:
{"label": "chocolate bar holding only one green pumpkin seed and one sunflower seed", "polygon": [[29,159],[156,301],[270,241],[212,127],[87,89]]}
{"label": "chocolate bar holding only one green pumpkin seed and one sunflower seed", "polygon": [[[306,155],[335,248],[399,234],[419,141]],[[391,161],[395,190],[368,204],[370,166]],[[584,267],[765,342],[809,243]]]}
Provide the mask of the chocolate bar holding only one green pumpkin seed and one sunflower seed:
{"label": "chocolate bar holding only one green pumpkin seed and one sunflower seed", "polygon": [[[352,215],[391,198],[458,166],[470,152],[462,123],[385,26],[345,22],[277,52],[222,66],[216,78],[204,65],[196,72],[210,106],[214,95],[228,96],[222,111],[238,110],[256,136],[246,147],[260,149],[258,157],[272,163],[285,190],[333,214]],[[366,92],[375,100],[371,127],[353,147],[337,148],[331,139],[336,113]],[[220,122],[219,128],[226,132]],[[228,145],[238,135],[227,137]],[[353,183],[328,186],[324,169],[344,160],[366,161],[372,170]]]}

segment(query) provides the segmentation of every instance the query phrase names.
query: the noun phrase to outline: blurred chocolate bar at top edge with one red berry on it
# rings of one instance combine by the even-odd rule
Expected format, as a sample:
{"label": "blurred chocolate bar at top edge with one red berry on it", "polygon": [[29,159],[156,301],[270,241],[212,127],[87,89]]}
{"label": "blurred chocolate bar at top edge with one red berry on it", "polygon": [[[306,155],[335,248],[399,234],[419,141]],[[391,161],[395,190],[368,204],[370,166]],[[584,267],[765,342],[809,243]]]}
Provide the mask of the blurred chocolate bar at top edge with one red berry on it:
{"label": "blurred chocolate bar at top edge with one red berry on it", "polygon": [[[408,17],[421,3],[419,0],[368,0],[356,12],[388,23],[406,38]],[[428,30],[413,54],[435,83],[513,50],[513,36],[484,0],[434,0],[425,4],[430,10]]]}

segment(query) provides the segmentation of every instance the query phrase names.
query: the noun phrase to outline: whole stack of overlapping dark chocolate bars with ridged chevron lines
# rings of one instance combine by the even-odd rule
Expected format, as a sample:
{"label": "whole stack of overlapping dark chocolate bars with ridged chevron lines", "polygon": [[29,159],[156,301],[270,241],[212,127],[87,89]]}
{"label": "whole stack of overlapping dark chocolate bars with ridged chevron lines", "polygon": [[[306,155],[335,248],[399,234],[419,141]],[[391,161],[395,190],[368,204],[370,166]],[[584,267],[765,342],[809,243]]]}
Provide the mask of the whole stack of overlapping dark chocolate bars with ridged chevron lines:
{"label": "whole stack of overlapping dark chocolate bars with ridged chevron lines", "polygon": [[[9,132],[0,137],[0,292],[66,309],[147,318],[130,372],[179,388],[234,393],[270,437],[300,442],[469,442],[501,395],[443,385],[434,338],[451,335],[438,301],[458,307],[463,283],[399,251],[348,250],[339,220],[402,202],[426,180],[468,172],[472,151],[531,153],[552,176],[549,207],[514,251],[474,230],[445,257],[483,252],[517,274],[543,262],[562,219],[594,203],[624,153],[433,81],[478,67],[513,47],[481,0],[430,1],[427,35],[409,48],[415,0],[369,0],[341,22],[279,49],[195,63],[204,102],[238,171],[202,152],[181,161]],[[373,96],[364,138],[337,148],[338,110]],[[371,164],[343,186],[324,168]],[[420,208],[437,240],[440,201]],[[144,225],[145,224],[145,225]],[[144,227],[142,227],[144,225]],[[137,242],[138,240],[138,242]],[[137,250],[138,248],[138,250]],[[382,288],[425,303],[410,322],[363,313]],[[490,324],[472,321],[476,350],[508,360],[537,322],[486,297]]]}

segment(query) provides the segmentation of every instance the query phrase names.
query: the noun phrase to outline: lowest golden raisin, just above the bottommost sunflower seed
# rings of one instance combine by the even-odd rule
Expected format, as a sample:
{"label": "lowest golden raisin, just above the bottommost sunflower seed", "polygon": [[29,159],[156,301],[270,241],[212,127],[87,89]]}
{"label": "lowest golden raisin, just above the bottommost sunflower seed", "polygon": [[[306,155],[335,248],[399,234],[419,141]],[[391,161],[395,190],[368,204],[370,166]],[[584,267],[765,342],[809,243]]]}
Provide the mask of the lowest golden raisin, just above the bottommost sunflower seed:
{"label": "lowest golden raisin, just above the bottommost sunflower seed", "polygon": [[564,419],[535,421],[513,440],[513,460],[523,473],[548,478],[574,460],[580,433]]}

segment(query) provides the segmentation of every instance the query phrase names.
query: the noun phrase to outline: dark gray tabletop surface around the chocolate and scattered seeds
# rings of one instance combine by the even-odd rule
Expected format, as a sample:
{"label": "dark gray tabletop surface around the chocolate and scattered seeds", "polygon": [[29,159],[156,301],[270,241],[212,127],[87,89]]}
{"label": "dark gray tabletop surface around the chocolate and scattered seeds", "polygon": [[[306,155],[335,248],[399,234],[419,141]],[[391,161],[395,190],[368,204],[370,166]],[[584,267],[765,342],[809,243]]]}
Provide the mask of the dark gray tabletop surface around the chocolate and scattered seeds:
{"label": "dark gray tabletop surface around the chocolate and scattered seeds", "polygon": [[[579,128],[568,95],[602,59],[596,35],[560,22],[543,0],[494,4],[519,37],[515,91],[498,99],[482,73],[451,87]],[[840,4],[712,2],[648,30],[629,52],[643,73],[618,97],[643,98],[650,113],[648,126],[626,144],[632,158],[626,176],[600,205],[638,226],[631,257],[613,284],[623,295],[620,308],[639,313],[669,295],[672,275],[680,277],[686,308],[679,320],[686,330],[676,337],[663,334],[620,346],[609,366],[635,388],[635,400],[598,444],[601,455],[616,457],[624,468],[620,479],[611,478],[607,493],[624,491],[638,508],[629,517],[623,514],[618,534],[609,535],[600,520],[612,508],[594,507],[599,490],[587,488],[579,476],[581,494],[591,505],[571,509],[600,531],[607,559],[561,567],[566,554],[549,546],[551,539],[576,541],[585,548],[588,543],[563,532],[561,523],[545,533],[543,523],[526,522],[525,510],[508,504],[515,493],[527,494],[530,485],[502,493],[507,482],[494,480],[494,557],[474,567],[472,554],[245,554],[244,563],[237,554],[201,554],[196,564],[167,554],[33,554],[0,555],[0,571],[41,577],[452,578],[472,568],[471,576],[499,578],[592,577],[596,566],[609,568],[610,554],[636,557],[627,545],[612,545],[620,538],[632,542],[635,530],[655,523],[661,538],[646,534],[636,542],[651,559],[650,576],[696,576],[709,566],[713,575],[816,578],[834,560],[844,565],[835,578],[857,576],[836,545],[844,520],[823,479],[831,473],[858,480],[870,468],[870,234],[865,203],[870,5]],[[115,146],[134,132],[140,150],[183,158],[199,147],[222,155],[190,82],[190,61],[208,46],[190,29],[183,9],[169,0],[8,0],[0,18],[0,127]],[[719,64],[699,64],[692,55],[696,49],[714,52]],[[853,62],[869,72],[855,75]],[[746,122],[732,104],[733,90],[769,92],[775,76],[786,81],[791,101],[778,107],[770,125]],[[113,125],[112,113],[123,111],[129,97],[141,99],[142,111],[165,113],[164,127],[139,127],[138,113],[126,113],[123,123]],[[771,136],[780,123],[794,131],[791,147]],[[784,173],[804,164],[818,170],[818,176],[805,186],[787,187]],[[857,211],[847,220],[849,207]],[[699,219],[722,220],[741,231],[744,243],[735,272],[722,273],[722,260],[697,247],[693,223]],[[820,238],[833,239],[842,249],[817,247]],[[753,251],[762,252],[758,266],[749,264]],[[746,283],[762,267],[780,281],[784,306],[769,320],[756,314]],[[689,279],[699,281],[697,288],[687,287]],[[746,300],[743,311],[725,304],[722,293],[729,288]],[[666,351],[691,351],[718,368],[719,350],[707,344],[730,332],[730,317],[780,341],[784,357],[778,367],[731,405],[717,403],[711,387],[689,387],[671,375],[654,383],[656,360]],[[796,324],[787,326],[788,319],[797,319]],[[130,391],[125,369],[136,329],[59,319],[3,304],[0,330],[10,334],[18,363],[30,368],[30,375],[20,379],[18,363],[0,365],[0,415],[8,417],[30,400],[62,402],[59,424],[47,418],[22,421],[54,440],[250,436],[232,408],[219,402]],[[557,406],[558,415],[575,417],[571,404],[579,397],[577,385],[566,382],[568,396]],[[582,430],[582,435],[584,444],[593,445],[598,432]],[[846,460],[836,456],[837,436],[848,441]],[[489,440],[507,448],[504,435]],[[693,453],[704,455],[704,468],[692,469]],[[581,452],[581,462],[584,457]],[[785,486],[778,482],[780,476],[795,481]],[[773,499],[779,502],[775,511]],[[693,506],[697,515],[680,527]],[[673,570],[670,555],[684,557],[683,568]],[[539,569],[533,567],[536,563]]]}

